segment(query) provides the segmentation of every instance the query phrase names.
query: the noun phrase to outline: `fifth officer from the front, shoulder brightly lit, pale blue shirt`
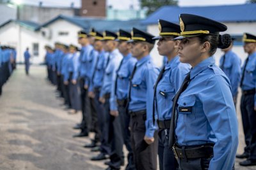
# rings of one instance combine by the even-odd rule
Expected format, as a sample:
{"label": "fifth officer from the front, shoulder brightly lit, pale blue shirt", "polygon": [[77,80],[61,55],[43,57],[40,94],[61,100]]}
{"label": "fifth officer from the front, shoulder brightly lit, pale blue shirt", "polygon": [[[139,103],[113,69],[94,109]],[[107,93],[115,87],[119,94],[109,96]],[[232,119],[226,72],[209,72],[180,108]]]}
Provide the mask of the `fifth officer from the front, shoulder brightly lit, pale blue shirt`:
{"label": "fifth officer from the front, shoulder brightly lit, pale blue shirt", "polygon": [[[117,150],[115,145],[113,145],[113,121],[115,117],[110,115],[110,106],[109,106],[109,99],[111,97],[111,90],[113,88],[113,81],[115,80],[116,70],[122,60],[122,54],[118,51],[117,45],[118,42],[115,41],[117,35],[111,31],[104,31],[103,32],[103,40],[105,41],[104,48],[107,52],[109,52],[108,58],[106,59],[106,67],[105,73],[103,76],[103,83],[102,89],[100,90],[100,103],[104,106],[104,134],[107,135],[107,141],[109,145],[111,145],[111,152],[109,155],[117,154],[120,155],[120,150]],[[121,139],[122,136],[115,136],[116,138]],[[100,152],[99,155],[92,157],[91,160],[102,160],[106,159],[106,154]]]}

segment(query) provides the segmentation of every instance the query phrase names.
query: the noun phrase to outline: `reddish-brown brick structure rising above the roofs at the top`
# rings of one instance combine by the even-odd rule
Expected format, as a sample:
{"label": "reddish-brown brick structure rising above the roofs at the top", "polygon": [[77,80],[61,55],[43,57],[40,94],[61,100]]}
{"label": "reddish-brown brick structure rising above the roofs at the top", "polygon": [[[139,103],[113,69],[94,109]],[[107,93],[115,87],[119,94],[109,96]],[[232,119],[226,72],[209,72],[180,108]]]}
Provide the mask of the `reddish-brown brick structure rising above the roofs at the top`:
{"label": "reddish-brown brick structure rising above the roofs at the top", "polygon": [[106,17],[106,0],[81,0],[80,15],[84,17]]}

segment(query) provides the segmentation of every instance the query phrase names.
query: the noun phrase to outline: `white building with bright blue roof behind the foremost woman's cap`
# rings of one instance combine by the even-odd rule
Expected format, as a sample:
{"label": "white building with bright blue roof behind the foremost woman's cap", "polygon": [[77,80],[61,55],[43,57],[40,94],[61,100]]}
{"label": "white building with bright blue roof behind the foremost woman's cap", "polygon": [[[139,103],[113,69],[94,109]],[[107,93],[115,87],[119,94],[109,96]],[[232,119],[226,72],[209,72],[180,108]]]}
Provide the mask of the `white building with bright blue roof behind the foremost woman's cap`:
{"label": "white building with bright blue roof behind the foremost woman's cap", "polygon": [[[236,38],[234,41],[234,52],[241,57],[242,61],[247,57],[243,50],[242,37],[243,32],[250,32],[251,34],[256,35],[256,4],[200,7],[163,6],[143,20],[142,23],[147,25],[148,32],[157,35],[159,34],[158,19],[179,24],[180,13],[201,15],[227,25],[227,31],[221,32],[221,34],[228,33]],[[223,55],[221,50],[217,50],[214,55],[216,64],[219,64],[221,55]],[[156,47],[152,50],[152,56],[157,65],[160,66],[162,60],[159,59],[162,59],[162,57],[159,56]]]}

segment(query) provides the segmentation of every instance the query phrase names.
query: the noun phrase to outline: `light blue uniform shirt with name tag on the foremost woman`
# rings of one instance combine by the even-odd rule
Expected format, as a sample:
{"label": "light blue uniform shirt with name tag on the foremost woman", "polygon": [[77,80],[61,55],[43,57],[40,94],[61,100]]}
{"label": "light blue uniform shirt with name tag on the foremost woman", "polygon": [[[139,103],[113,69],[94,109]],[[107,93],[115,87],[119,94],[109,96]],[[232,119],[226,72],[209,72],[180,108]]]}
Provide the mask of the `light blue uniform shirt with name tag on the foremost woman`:
{"label": "light blue uniform shirt with name tag on the foremost woman", "polygon": [[230,81],[212,57],[191,69],[190,79],[177,101],[177,143],[181,146],[215,143],[209,170],[232,169],[238,124]]}

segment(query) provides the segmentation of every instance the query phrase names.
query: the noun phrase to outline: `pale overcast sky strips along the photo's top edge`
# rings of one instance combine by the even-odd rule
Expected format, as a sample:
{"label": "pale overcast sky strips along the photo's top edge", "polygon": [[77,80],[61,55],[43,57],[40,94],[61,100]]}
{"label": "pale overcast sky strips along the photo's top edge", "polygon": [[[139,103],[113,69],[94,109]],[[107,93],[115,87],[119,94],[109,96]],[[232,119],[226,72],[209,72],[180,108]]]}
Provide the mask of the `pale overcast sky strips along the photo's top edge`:
{"label": "pale overcast sky strips along the photo's top edge", "polygon": [[[81,0],[12,0],[26,4],[39,4],[43,2],[43,6],[70,6],[74,3],[76,7],[81,6]],[[101,1],[101,0],[99,0]],[[220,4],[243,4],[246,0],[179,0],[179,6],[206,6]],[[125,10],[133,5],[135,9],[139,8],[139,0],[107,0],[108,6],[111,5],[115,9]]]}

